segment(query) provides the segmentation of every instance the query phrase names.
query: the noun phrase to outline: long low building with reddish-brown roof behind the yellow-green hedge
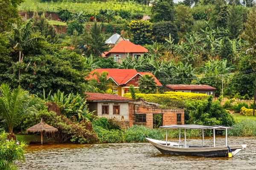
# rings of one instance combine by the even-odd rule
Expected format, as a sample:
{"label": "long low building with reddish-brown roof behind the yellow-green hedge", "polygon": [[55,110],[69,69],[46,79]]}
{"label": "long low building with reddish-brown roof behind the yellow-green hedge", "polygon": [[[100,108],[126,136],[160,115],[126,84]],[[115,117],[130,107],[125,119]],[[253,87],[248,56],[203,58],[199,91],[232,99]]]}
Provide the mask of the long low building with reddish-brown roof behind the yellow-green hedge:
{"label": "long low building with reddish-brown roof behind the yellow-green hedge", "polygon": [[164,91],[177,91],[177,92],[185,92],[185,93],[197,93],[197,94],[207,94],[215,97],[215,90],[209,85],[166,85]]}

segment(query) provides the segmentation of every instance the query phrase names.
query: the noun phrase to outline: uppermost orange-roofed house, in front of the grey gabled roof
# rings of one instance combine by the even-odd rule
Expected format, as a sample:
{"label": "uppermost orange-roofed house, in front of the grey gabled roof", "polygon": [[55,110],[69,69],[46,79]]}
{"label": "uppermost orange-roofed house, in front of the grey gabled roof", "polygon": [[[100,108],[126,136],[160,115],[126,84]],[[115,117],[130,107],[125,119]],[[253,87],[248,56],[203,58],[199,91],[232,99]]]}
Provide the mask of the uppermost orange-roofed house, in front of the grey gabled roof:
{"label": "uppermost orange-roofed house, in front of the grey gabled roof", "polygon": [[120,41],[116,46],[114,46],[110,51],[102,54],[102,57],[114,57],[115,62],[122,62],[121,58],[125,59],[129,53],[129,56],[139,59],[140,56],[148,52],[147,48],[141,45],[135,45],[130,41],[124,40]]}

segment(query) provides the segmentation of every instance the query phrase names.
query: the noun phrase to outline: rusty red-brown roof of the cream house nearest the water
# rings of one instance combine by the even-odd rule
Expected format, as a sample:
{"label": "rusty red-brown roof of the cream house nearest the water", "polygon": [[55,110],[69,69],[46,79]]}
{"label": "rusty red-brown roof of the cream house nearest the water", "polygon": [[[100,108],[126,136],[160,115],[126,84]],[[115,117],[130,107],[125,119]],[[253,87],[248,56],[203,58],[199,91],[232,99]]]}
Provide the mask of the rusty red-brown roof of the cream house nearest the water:
{"label": "rusty red-brown roof of the cream house nearest the water", "polygon": [[90,95],[87,100],[133,100],[115,94],[85,93]]}

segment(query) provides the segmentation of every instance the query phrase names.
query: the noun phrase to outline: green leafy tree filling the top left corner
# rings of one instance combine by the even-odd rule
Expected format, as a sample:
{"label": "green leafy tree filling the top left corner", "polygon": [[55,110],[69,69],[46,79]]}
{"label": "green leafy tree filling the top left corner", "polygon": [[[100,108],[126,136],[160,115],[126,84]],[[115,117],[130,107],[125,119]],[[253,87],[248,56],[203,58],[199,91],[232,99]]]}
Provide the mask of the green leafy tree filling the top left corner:
{"label": "green leafy tree filling the top left corner", "polygon": [[1,0],[0,1],[0,31],[7,31],[12,28],[12,24],[20,23],[18,6],[25,0]]}

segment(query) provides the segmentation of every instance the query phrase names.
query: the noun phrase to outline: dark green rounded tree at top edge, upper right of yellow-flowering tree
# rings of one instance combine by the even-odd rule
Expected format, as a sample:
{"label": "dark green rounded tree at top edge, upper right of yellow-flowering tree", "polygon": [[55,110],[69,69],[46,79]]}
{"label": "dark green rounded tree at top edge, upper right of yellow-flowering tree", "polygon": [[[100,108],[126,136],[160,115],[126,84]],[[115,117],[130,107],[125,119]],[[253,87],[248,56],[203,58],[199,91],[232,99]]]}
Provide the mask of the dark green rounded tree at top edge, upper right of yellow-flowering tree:
{"label": "dark green rounded tree at top edge, upper right of yellow-flowering tree", "polygon": [[156,23],[160,21],[174,20],[173,0],[154,0],[151,8],[151,21]]}

